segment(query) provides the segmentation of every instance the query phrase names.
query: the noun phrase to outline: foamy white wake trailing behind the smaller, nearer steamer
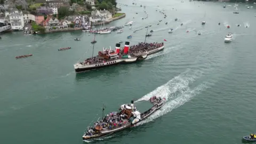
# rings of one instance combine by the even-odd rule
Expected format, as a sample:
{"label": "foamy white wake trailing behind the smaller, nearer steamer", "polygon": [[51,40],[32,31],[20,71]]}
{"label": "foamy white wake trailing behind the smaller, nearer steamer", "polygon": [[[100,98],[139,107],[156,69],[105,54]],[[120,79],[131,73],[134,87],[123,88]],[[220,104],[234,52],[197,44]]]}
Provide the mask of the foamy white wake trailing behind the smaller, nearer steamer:
{"label": "foamy white wake trailing behind the smaller, nearer steamer", "polygon": [[149,100],[150,97],[154,95],[165,98],[167,100],[161,109],[156,111],[156,113],[148,117],[145,121],[138,123],[136,126],[154,121],[154,119],[157,117],[165,115],[173,109],[182,106],[184,103],[195,97],[195,95],[208,88],[206,84],[199,84],[194,89],[190,90],[189,84],[193,83],[195,79],[198,78],[196,76],[197,71],[195,71],[193,74],[190,74],[190,71],[191,70],[188,69],[185,71],[185,73],[174,77],[166,84],[157,87],[154,91],[135,101],[139,102],[142,100]]}

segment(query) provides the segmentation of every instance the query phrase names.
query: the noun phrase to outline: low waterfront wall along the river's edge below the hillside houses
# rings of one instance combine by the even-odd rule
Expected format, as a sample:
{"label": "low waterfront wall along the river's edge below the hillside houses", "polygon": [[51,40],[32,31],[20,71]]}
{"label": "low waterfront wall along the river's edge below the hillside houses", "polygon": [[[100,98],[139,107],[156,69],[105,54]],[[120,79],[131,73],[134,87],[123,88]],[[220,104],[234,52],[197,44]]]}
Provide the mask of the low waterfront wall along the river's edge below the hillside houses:
{"label": "low waterfront wall along the river's edge below the hillside houses", "polygon": [[[115,21],[115,20],[119,20],[119,19],[122,19],[126,17],[126,14],[123,13],[123,15],[120,15],[119,17],[116,17],[116,18],[111,18],[109,19],[109,21],[105,21],[105,23],[110,23],[112,21]],[[102,22],[97,22],[97,23],[92,23],[93,26],[99,26],[101,25]],[[53,30],[45,30],[45,33],[40,33],[38,31],[37,34],[49,34],[49,33],[57,33],[57,32],[65,32],[65,31],[74,31],[74,30],[82,30],[83,28],[65,28],[65,29],[53,29]]]}

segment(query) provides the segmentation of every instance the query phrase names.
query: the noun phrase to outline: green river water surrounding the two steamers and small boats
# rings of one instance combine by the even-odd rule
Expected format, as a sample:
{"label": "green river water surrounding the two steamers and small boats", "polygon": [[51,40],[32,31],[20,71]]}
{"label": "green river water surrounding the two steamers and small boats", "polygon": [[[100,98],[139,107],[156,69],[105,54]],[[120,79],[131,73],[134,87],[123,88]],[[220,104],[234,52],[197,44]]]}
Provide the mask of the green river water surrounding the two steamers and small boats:
{"label": "green river water surrounding the two steamers and small boats", "polygon": [[[101,117],[102,103],[107,113],[131,100],[139,106],[153,95],[167,99],[161,110],[137,127],[94,143],[242,143],[242,136],[255,132],[256,29],[250,27],[256,25],[254,8],[239,4],[240,13],[233,14],[234,3],[226,9],[219,2],[118,3],[128,4],[121,6],[126,17],[107,26],[135,21],[132,27],[137,29],[151,24],[154,32],[146,41],[166,39],[164,51],[143,62],[75,74],[73,64],[92,55],[93,35],[72,31],[2,36],[1,143],[83,143],[87,125]],[[162,9],[166,19],[158,12]],[[146,17],[143,10],[148,19],[141,20]],[[129,27],[122,34],[97,35],[94,53],[102,47],[114,49],[131,34],[131,45],[145,40],[146,29],[132,33]],[[172,34],[167,33],[170,28]],[[229,32],[234,40],[224,43]],[[72,49],[58,51],[68,46]],[[33,57],[14,58],[29,53]]]}

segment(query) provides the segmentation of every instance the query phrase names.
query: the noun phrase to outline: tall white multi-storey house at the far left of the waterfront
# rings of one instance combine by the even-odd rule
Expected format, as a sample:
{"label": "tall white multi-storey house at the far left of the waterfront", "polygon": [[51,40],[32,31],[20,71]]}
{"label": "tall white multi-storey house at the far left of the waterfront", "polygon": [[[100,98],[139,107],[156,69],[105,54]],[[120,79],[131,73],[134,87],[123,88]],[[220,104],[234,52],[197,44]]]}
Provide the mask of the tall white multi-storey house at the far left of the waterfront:
{"label": "tall white multi-storey house at the far left of the waterfront", "polygon": [[9,13],[9,18],[13,30],[23,30],[25,23],[23,13],[21,11],[19,12],[18,9],[13,8]]}

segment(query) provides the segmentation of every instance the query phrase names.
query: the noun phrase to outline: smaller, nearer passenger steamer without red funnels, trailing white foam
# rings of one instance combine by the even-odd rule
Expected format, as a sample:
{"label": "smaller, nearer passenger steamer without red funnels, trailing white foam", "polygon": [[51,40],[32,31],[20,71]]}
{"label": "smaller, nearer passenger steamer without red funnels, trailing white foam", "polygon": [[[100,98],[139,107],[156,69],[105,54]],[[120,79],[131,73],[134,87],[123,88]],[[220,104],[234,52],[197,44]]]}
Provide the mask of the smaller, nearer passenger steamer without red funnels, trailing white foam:
{"label": "smaller, nearer passenger steamer without red funnels, trailing white foam", "polygon": [[[96,138],[105,137],[106,135],[113,134],[115,132],[127,129],[135,124],[145,120],[150,115],[154,114],[158,109],[163,107],[165,98],[151,97],[150,103],[153,104],[147,111],[140,113],[136,107],[134,107],[134,101],[130,104],[123,104],[119,111],[113,111],[112,113],[103,117],[104,108],[102,109],[102,120],[95,122],[94,126],[88,127],[87,131],[83,134],[83,140],[93,140]],[[103,106],[104,107],[104,106]]]}

